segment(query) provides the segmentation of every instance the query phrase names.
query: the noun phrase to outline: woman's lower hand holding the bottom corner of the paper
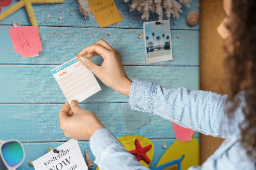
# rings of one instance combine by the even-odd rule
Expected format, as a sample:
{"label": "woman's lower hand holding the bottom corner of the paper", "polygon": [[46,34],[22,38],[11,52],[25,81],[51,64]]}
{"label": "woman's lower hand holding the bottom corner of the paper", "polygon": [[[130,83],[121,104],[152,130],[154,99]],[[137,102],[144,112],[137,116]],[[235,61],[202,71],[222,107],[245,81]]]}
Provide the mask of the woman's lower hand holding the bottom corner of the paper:
{"label": "woman's lower hand holding the bottom corner of the paper", "polygon": [[59,112],[59,119],[64,135],[76,140],[90,140],[94,132],[105,128],[93,112],[82,109],[76,100],[72,100],[70,105],[65,102]]}

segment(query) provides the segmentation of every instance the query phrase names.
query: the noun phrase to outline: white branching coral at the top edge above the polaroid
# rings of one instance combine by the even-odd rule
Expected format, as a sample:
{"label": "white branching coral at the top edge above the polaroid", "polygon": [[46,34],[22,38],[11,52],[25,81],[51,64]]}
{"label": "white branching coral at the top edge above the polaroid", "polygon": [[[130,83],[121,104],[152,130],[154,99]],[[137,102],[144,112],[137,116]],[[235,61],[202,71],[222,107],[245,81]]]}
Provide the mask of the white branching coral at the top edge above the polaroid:
{"label": "white branching coral at the top edge above the polaroid", "polygon": [[[124,0],[125,3],[128,3],[130,0]],[[132,4],[130,5],[130,12],[138,10],[138,12],[143,12],[141,19],[148,20],[149,13],[156,12],[158,14],[158,19],[163,19],[163,9],[165,9],[165,15],[170,19],[171,14],[173,18],[177,17],[179,19],[179,12],[182,13],[180,9],[181,3],[190,8],[189,2],[192,0],[131,0]],[[162,2],[163,1],[163,2]]]}

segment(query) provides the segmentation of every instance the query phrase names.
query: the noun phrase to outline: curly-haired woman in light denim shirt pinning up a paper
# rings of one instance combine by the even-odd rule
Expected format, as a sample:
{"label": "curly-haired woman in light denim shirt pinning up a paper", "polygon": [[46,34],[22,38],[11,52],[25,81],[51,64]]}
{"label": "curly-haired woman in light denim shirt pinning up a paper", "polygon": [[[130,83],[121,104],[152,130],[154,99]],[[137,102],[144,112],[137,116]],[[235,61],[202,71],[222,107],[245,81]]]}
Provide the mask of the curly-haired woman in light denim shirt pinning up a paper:
{"label": "curly-haired woman in light denim shirt pinning up a paper", "polygon": [[[227,95],[209,91],[168,89],[150,82],[130,81],[120,56],[99,40],[83,49],[79,61],[110,88],[129,97],[132,109],[157,114],[206,135],[227,138],[202,166],[189,169],[255,169],[256,160],[256,1],[224,0],[227,17],[218,27],[225,39]],[[97,66],[90,58],[102,56]],[[72,116],[76,114],[75,116]],[[100,169],[148,169],[131,155],[95,114],[66,102],[59,113],[64,134],[90,139]]]}

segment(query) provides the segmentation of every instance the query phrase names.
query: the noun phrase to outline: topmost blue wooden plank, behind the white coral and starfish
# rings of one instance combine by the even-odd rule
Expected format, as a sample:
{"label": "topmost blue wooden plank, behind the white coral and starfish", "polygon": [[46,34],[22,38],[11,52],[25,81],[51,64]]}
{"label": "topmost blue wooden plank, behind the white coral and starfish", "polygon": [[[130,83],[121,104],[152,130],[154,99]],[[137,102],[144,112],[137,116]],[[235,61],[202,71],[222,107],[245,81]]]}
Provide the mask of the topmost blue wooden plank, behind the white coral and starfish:
{"label": "topmost blue wooden plank, behind the white coral and starfish", "polygon": [[[13,0],[13,4],[17,3],[19,0]],[[108,27],[129,27],[129,23],[131,23],[131,27],[140,27],[143,28],[143,22],[158,20],[158,15],[154,13],[152,15],[150,13],[150,18],[148,20],[141,19],[142,13],[138,11],[129,12],[130,8],[129,3],[124,3],[124,0],[115,1],[118,10],[121,10],[124,13],[124,20],[118,26],[108,26]],[[171,17],[171,28],[172,29],[199,29],[199,24],[194,27],[189,27],[186,22],[186,17],[189,12],[196,11],[199,13],[199,8],[196,7],[196,4],[199,3],[199,0],[193,0],[191,3],[191,8],[187,8],[182,4],[182,11],[180,13],[180,19],[173,19]],[[10,5],[10,6],[11,6]],[[33,4],[33,10],[35,12],[35,17],[38,23],[38,26],[71,26],[71,27],[99,27],[93,15],[91,17],[87,17],[86,20],[83,20],[83,15],[79,12],[79,3],[76,0],[67,0],[62,4]],[[6,10],[8,7],[4,6],[2,12]],[[70,15],[74,12],[74,16]],[[51,17],[46,19],[46,15],[50,14]],[[164,14],[165,16],[165,14]],[[58,18],[61,17],[61,20]],[[164,17],[163,19],[166,19]],[[6,19],[0,22],[1,25],[12,25],[12,22],[20,22],[22,26],[31,26],[28,15],[26,13],[25,8],[21,8],[17,12],[13,13]],[[177,22],[176,25],[173,22]]]}

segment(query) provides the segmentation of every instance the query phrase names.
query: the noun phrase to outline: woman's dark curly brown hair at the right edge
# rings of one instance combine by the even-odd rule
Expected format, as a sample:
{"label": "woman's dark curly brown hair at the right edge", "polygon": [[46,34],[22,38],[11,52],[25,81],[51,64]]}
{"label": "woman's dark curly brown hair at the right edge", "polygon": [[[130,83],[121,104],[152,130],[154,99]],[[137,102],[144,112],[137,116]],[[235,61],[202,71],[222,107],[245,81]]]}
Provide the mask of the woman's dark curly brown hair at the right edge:
{"label": "woman's dark curly brown hair at the right edge", "polygon": [[[256,160],[256,1],[232,0],[230,42],[224,50],[227,58],[224,66],[228,88],[227,114],[231,118],[241,101],[236,95],[244,90],[244,122],[241,123],[241,144],[249,157]],[[232,49],[230,49],[230,45]]]}

